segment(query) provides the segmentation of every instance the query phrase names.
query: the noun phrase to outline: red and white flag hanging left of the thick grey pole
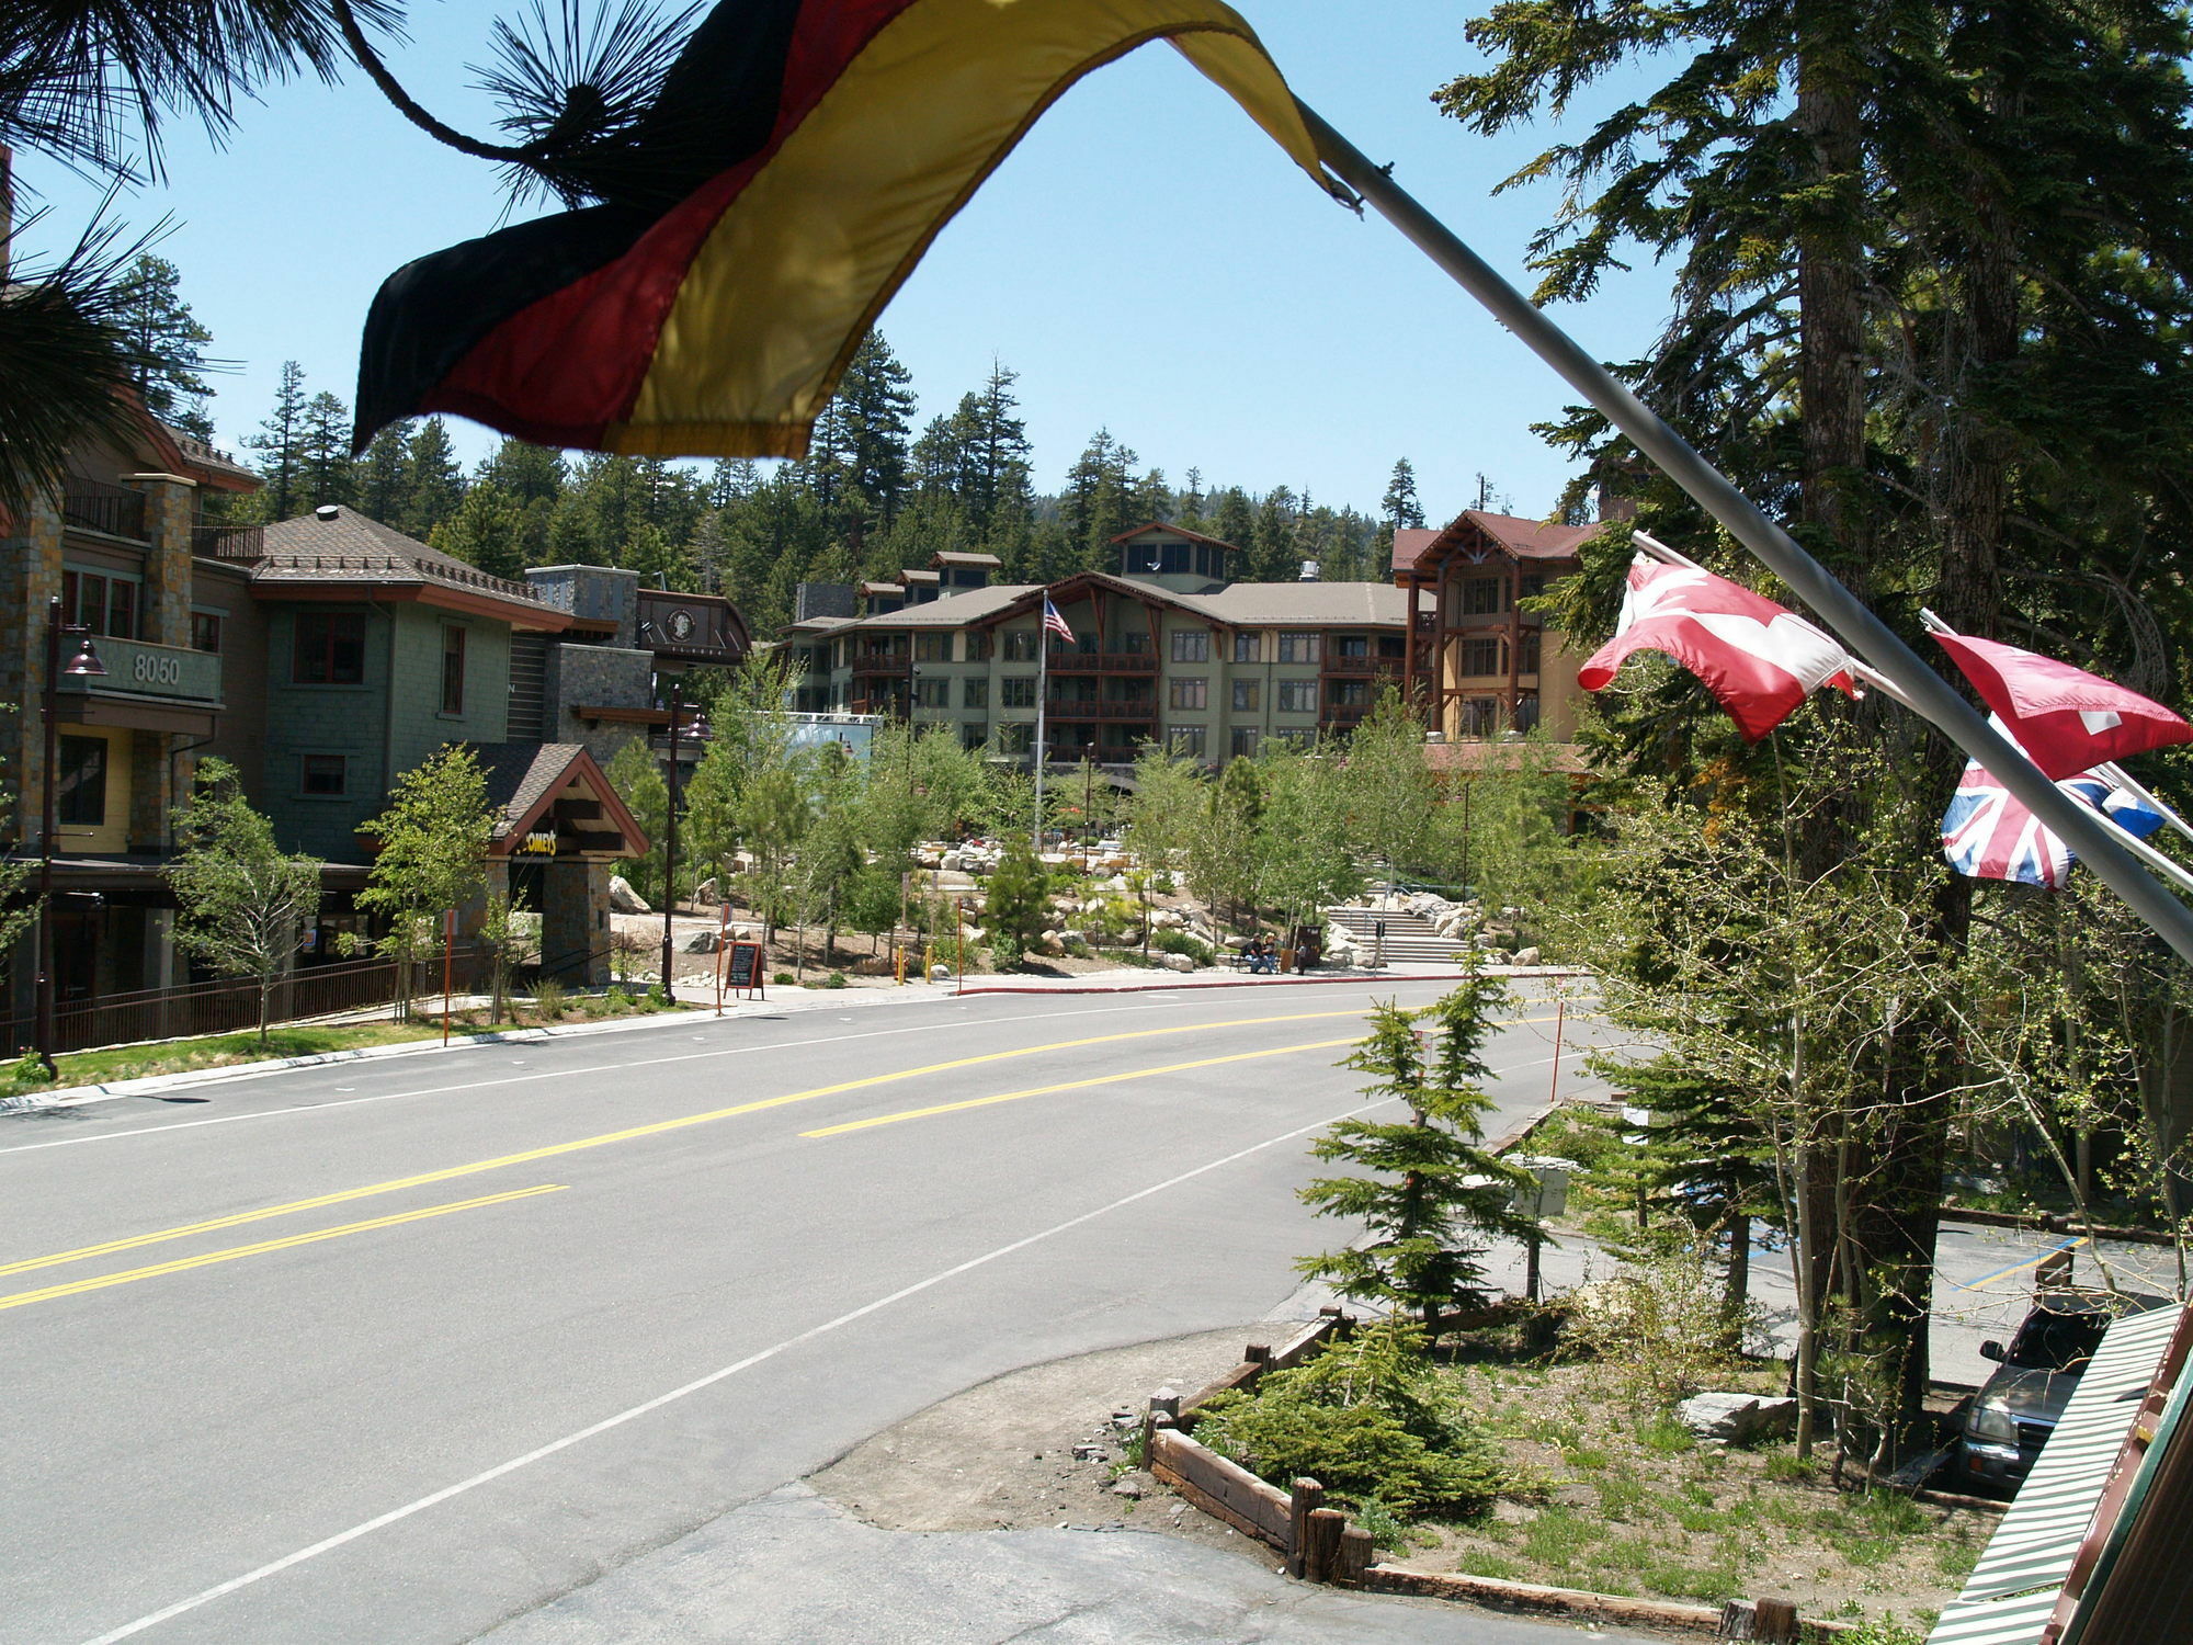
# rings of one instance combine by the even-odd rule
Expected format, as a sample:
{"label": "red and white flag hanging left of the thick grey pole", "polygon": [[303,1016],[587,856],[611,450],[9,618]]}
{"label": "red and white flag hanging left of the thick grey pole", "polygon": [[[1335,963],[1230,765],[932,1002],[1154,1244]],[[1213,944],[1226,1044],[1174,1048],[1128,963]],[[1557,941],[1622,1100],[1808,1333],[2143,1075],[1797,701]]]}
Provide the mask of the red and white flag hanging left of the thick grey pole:
{"label": "red and white flag hanging left of the thick grey pole", "polygon": [[1614,638],[1577,669],[1605,687],[1632,651],[1667,651],[1695,673],[1748,741],[1759,741],[1825,684],[1857,695],[1851,658],[1796,612],[1693,566],[1629,561]]}

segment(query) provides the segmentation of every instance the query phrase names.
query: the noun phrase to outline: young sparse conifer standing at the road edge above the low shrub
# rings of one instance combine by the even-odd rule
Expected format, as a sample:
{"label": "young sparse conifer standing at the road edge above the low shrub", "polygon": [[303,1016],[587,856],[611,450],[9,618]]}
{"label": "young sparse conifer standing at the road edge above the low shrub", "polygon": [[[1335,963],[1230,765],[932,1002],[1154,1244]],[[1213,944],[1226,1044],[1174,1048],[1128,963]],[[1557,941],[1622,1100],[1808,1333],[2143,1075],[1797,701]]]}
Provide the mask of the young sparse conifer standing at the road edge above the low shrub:
{"label": "young sparse conifer standing at the road edge above the low shrub", "polygon": [[[1371,1037],[1342,1066],[1373,1075],[1364,1094],[1404,1103],[1408,1119],[1344,1119],[1311,1145],[1362,1173],[1318,1178],[1303,1200],[1322,1217],[1362,1222],[1371,1237],[1296,1268],[1342,1296],[1414,1314],[1434,1336],[1480,1287],[1485,1241],[1535,1226],[1509,1206],[1526,1176],[1480,1145],[1491,1108],[1478,1084],[1491,1073],[1482,1053],[1507,998],[1502,980],[1474,974],[1421,1013],[1377,1007]],[[1432,1026],[1430,1053],[1419,1018]]]}

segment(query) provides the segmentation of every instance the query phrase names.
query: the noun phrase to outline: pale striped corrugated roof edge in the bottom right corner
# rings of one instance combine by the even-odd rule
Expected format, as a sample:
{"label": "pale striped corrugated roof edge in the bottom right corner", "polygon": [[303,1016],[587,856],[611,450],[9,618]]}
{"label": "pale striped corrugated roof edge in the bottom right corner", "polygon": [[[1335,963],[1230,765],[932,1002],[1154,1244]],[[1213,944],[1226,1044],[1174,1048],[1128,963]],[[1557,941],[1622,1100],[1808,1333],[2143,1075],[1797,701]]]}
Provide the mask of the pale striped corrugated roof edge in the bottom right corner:
{"label": "pale striped corrugated roof edge in the bottom right corner", "polygon": [[1928,1645],[2037,1645],[2182,1307],[2110,1327],[2064,1419]]}

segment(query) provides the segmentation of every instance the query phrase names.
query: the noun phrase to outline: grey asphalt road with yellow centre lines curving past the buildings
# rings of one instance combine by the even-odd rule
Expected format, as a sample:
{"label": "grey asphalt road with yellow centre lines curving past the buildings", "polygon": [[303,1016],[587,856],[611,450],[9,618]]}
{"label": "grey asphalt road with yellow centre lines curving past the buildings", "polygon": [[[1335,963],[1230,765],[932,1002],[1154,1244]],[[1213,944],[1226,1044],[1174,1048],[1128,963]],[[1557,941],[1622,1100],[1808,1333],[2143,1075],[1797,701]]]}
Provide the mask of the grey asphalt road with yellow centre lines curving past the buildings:
{"label": "grey asphalt road with yellow centre lines curving past the buildings", "polygon": [[[474,1638],[985,1377],[1259,1318],[1344,1237],[1294,1189],[1395,994],[1439,985],[695,1016],[9,1119],[0,1643]],[[1502,1119],[1553,1073],[1520,1016]]]}

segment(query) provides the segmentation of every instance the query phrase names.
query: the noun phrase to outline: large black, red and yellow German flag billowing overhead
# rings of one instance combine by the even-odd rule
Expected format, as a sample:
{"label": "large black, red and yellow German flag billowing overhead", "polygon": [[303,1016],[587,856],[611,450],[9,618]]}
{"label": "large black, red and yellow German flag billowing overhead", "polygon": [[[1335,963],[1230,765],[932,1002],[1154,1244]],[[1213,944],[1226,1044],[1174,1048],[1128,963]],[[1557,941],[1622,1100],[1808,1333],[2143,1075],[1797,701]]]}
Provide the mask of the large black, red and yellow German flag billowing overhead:
{"label": "large black, red and yellow German flag billowing overhead", "polygon": [[1327,184],[1219,0],[724,0],[603,204],[397,270],[357,445],[456,412],[539,445],[805,456],[875,316],[1068,86],[1169,39]]}

